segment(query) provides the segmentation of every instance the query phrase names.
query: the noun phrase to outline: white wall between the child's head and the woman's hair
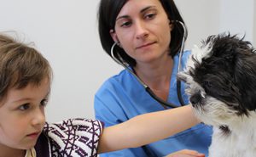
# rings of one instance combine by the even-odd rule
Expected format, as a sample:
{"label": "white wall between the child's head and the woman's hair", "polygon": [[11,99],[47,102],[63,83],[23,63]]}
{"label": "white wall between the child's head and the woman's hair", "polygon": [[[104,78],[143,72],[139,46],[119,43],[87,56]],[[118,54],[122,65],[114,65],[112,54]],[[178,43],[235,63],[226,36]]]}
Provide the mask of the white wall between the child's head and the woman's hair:
{"label": "white wall between the child's head and the woman's hair", "polygon": [[35,42],[54,70],[49,121],[94,117],[94,93],[121,70],[102,50],[96,22],[99,0],[0,0],[0,31]]}

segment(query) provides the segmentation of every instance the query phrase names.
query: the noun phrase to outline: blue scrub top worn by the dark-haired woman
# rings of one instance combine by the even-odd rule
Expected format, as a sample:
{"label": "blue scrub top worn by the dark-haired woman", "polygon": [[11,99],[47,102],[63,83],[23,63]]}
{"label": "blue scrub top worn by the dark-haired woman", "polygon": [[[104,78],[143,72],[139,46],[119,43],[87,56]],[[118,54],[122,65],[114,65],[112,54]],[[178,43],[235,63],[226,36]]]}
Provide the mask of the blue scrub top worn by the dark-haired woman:
{"label": "blue scrub top worn by the dark-haired woman", "polygon": [[[185,66],[189,53],[189,51],[183,53],[182,68]],[[177,98],[176,80],[178,54],[173,60],[168,102],[180,105]],[[184,102],[189,104],[188,96],[184,93],[183,82],[181,91]],[[94,101],[96,119],[103,121],[105,126],[113,126],[137,115],[165,109],[154,98],[150,97],[139,81],[127,70],[122,70],[119,75],[105,81],[97,91]],[[154,127],[154,124],[152,124],[152,127]],[[140,148],[123,149],[101,154],[101,157],[162,157],[181,149],[194,149],[208,156],[208,147],[211,139],[212,127],[199,124],[164,140],[150,143]]]}

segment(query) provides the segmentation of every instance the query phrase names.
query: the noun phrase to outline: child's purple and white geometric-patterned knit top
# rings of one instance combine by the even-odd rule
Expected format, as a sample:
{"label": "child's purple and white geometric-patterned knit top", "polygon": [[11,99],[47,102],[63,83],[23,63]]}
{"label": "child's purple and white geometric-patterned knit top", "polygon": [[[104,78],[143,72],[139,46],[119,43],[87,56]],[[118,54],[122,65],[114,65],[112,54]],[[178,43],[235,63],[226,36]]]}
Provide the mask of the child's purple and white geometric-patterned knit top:
{"label": "child's purple and white geometric-patterned knit top", "polygon": [[46,123],[35,146],[37,157],[96,157],[101,121],[69,119]]}

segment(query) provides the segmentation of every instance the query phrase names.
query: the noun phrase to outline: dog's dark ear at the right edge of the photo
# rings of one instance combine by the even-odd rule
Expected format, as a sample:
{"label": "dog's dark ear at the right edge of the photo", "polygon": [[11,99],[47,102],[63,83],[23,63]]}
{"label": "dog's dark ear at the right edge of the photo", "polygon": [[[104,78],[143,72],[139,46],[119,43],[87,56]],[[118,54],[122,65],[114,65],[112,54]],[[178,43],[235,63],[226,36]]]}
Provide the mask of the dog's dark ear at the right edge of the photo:
{"label": "dog's dark ear at the right edge of the photo", "polygon": [[256,109],[256,53],[252,49],[237,53],[235,81],[241,94],[241,104],[249,110]]}

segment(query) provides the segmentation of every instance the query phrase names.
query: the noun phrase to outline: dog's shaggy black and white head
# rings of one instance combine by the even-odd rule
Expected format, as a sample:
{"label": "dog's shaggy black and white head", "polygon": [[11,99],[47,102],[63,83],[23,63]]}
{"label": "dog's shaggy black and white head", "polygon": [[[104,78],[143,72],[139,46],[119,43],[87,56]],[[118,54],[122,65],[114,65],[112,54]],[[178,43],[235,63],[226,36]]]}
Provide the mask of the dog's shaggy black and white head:
{"label": "dog's shaggy black and white head", "polygon": [[256,53],[242,38],[209,36],[177,77],[187,83],[195,114],[207,124],[225,126],[256,109]]}

